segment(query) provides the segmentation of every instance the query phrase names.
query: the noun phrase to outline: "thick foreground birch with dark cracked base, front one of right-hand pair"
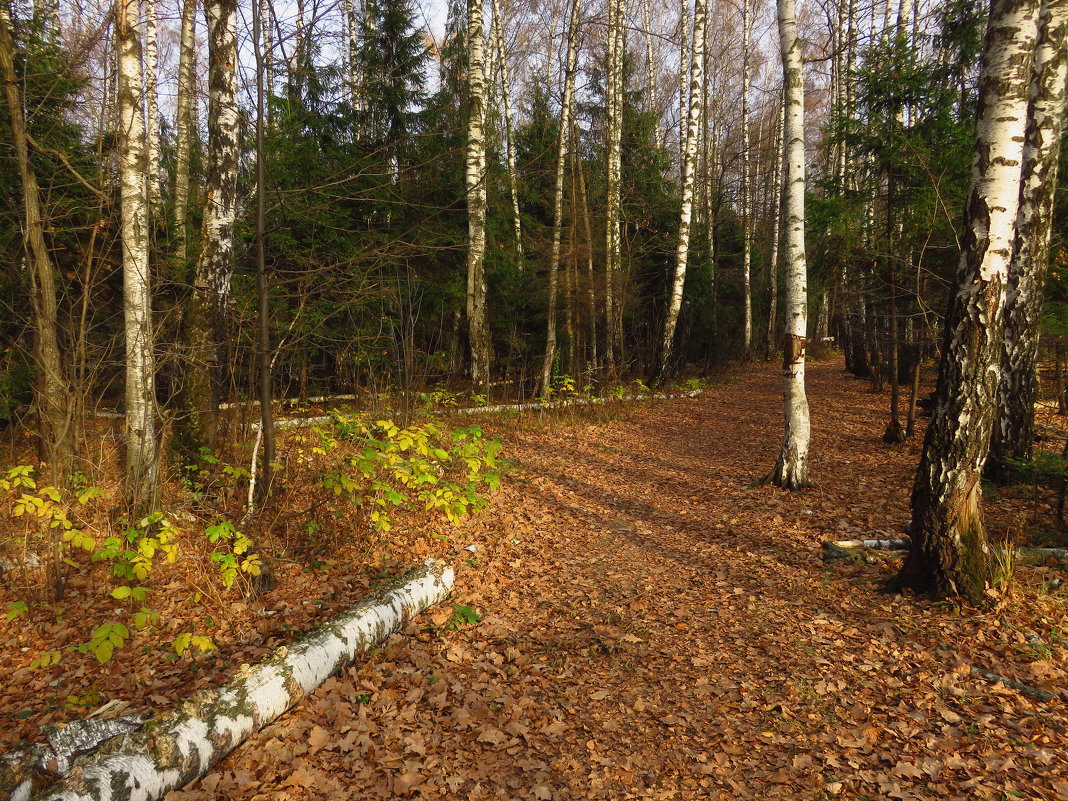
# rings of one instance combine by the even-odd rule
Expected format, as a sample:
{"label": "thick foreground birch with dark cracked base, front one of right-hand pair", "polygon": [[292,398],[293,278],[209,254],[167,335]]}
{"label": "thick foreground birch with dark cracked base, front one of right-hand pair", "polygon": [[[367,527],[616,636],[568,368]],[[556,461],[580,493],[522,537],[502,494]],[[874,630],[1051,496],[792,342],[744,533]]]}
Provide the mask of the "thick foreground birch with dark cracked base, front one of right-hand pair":
{"label": "thick foreground birch with dark cracked base, front one of right-hand pair", "polygon": [[1037,18],[1038,0],[991,3],[963,250],[912,488],[911,545],[893,582],[972,602],[984,600],[993,580],[979,478],[996,408]]}

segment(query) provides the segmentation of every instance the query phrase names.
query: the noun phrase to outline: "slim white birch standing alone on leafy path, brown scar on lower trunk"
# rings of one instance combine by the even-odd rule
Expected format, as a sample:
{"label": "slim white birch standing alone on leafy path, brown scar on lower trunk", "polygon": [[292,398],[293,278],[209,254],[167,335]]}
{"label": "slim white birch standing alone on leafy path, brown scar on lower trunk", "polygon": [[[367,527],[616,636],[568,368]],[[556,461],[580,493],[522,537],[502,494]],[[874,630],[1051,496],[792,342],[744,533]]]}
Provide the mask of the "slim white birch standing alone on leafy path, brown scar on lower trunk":
{"label": "slim white birch standing alone on leafy path, brown scar on lower trunk", "polygon": [[786,436],[771,474],[775,486],[801,489],[808,480],[808,398],[804,388],[807,335],[807,268],[804,247],[804,76],[795,0],[779,0],[779,44],[783,59],[783,191],[786,255],[786,331],[783,378]]}

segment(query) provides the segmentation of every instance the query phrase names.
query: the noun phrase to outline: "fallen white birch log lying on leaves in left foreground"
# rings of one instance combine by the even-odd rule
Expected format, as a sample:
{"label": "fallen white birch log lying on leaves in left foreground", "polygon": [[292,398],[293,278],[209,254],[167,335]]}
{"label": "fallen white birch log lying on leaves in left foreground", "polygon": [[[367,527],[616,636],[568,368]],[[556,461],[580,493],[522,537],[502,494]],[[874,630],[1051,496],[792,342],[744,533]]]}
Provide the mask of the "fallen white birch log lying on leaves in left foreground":
{"label": "fallen white birch log lying on leaves in left foreground", "polygon": [[[347,612],[302,634],[226,685],[197,693],[138,732],[115,738],[42,801],[155,801],[205,775],[245,739],[273,721],[355,656],[449,597],[453,570],[428,561]],[[13,799],[29,796],[13,795]]]}

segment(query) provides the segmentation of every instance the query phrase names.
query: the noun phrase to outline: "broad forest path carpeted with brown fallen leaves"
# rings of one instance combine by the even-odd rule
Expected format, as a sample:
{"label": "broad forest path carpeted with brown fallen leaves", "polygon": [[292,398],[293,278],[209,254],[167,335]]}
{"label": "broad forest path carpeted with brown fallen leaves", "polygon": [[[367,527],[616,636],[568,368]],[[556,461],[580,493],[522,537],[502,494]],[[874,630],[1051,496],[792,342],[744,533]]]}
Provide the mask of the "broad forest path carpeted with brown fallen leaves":
{"label": "broad forest path carpeted with brown fallen leaves", "polygon": [[878,441],[884,398],[838,364],[810,390],[798,494],[751,486],[770,366],[508,435],[519,469],[458,543],[482,622],[423,621],[170,798],[1068,798],[1064,704],[969,673],[1065,687],[1064,596],[960,617],[823,567],[820,539],[899,531],[917,445]]}

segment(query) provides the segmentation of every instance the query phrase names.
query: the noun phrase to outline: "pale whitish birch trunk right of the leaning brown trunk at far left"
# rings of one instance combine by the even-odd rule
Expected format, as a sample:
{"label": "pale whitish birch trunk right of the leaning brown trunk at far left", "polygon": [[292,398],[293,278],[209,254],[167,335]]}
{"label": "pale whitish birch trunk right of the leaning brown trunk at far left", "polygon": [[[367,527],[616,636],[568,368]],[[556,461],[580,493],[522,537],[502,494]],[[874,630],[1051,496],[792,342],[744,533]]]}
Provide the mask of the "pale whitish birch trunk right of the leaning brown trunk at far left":
{"label": "pale whitish birch trunk right of the leaning brown trunk at far left", "polygon": [[156,361],[148,277],[148,159],[138,4],[115,3],[119,48],[119,162],[122,184],[123,313],[126,333],[126,500],[130,519],[155,509],[159,493]]}

